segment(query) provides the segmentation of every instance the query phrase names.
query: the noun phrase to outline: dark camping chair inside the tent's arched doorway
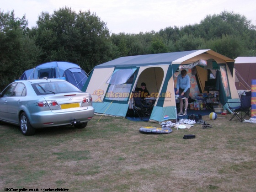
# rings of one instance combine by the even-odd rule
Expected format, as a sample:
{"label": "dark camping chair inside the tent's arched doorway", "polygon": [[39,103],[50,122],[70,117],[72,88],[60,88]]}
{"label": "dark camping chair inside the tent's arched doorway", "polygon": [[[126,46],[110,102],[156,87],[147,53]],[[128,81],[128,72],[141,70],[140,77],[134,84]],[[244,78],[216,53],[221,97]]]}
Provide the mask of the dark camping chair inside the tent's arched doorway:
{"label": "dark camping chair inside the tent's arched doorway", "polygon": [[150,115],[151,107],[143,103],[141,97],[139,97],[138,91],[132,91],[133,93],[133,111],[134,114],[137,114],[141,119],[147,115]]}

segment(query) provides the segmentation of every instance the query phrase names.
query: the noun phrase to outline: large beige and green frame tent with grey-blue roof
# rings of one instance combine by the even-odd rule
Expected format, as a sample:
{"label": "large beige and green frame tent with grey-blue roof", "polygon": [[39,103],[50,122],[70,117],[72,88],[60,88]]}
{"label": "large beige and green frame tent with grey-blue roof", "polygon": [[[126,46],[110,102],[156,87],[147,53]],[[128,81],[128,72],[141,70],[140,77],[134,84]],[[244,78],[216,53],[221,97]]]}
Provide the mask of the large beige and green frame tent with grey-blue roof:
{"label": "large beige and green frame tent with grey-blue roof", "polygon": [[[174,74],[180,66],[209,61],[208,68],[217,69],[219,100],[239,99],[232,77],[235,60],[210,49],[121,57],[97,65],[82,91],[90,92],[96,114],[126,117],[132,105],[131,92],[146,82],[150,94],[157,97],[149,121],[176,119]],[[207,69],[195,66],[198,88],[204,92]],[[199,83],[200,82],[200,83]]]}

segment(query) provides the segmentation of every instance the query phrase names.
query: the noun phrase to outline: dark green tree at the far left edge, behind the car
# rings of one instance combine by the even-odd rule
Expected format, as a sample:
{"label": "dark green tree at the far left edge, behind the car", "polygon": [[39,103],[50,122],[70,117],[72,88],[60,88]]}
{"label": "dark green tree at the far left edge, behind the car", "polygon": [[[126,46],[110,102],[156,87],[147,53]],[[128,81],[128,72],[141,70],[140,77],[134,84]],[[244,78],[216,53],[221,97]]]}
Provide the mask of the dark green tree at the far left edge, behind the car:
{"label": "dark green tree at the far left edge, behind the car", "polygon": [[0,12],[0,89],[38,63],[41,51],[27,36],[27,23],[25,15]]}

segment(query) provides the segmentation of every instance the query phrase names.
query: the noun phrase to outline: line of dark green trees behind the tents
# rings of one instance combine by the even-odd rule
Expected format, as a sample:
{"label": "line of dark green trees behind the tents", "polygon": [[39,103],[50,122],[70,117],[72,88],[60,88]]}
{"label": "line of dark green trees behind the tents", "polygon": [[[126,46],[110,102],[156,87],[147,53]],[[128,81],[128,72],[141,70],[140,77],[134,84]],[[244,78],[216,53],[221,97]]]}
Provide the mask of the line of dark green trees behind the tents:
{"label": "line of dark green trees behind the tents", "polygon": [[67,61],[87,73],[98,64],[124,56],[212,49],[231,59],[256,56],[256,26],[245,16],[223,11],[199,24],[166,27],[159,32],[111,33],[91,11],[70,7],[43,11],[36,27],[26,15],[0,12],[0,90],[38,64]]}

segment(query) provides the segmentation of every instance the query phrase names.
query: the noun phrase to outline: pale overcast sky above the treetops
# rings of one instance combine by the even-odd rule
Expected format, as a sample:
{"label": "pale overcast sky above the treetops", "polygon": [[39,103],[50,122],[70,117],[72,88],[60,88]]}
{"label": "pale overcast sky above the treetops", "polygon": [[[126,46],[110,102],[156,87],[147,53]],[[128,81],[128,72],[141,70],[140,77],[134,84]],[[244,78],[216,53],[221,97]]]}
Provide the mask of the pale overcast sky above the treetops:
{"label": "pale overcast sky above the treetops", "polygon": [[1,0],[0,11],[14,10],[15,17],[26,15],[28,27],[38,16],[65,6],[73,11],[95,13],[107,23],[111,33],[155,32],[166,27],[199,24],[206,16],[233,11],[256,25],[255,0]]}

